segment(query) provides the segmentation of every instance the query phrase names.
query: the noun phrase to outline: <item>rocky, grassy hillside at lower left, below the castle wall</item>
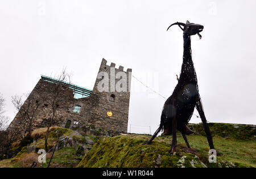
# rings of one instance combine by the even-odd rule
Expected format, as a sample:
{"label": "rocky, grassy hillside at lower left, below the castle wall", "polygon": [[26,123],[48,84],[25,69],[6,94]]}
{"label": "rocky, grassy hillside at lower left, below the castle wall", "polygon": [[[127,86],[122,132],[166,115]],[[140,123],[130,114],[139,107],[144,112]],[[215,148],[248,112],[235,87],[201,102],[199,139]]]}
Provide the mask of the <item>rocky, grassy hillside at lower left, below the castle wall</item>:
{"label": "rocky, grassy hillside at lower left, below the castle wall", "polygon": [[[35,161],[38,162],[38,151],[44,148],[44,137],[46,128],[40,128],[32,132],[32,142],[16,142],[13,144],[13,152],[18,152],[13,158],[0,160],[0,168],[27,168]],[[65,138],[66,137],[66,138]],[[82,157],[96,143],[98,137],[93,135],[85,135],[82,131],[73,131],[61,127],[51,127],[48,147],[53,148],[58,138],[65,138],[61,141],[54,153],[51,161],[51,168],[73,168],[81,161]],[[23,144],[25,143],[25,144]],[[46,162],[51,159],[52,151],[46,155]],[[36,168],[45,168],[46,163],[38,163]]]}

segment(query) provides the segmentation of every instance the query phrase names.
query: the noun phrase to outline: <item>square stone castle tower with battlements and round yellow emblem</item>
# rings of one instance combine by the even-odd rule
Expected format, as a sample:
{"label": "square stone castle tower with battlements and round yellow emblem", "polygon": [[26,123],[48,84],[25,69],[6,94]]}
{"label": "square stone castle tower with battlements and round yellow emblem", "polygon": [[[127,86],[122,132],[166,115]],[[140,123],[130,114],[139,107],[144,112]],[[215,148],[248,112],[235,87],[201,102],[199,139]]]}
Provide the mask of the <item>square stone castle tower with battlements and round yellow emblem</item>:
{"label": "square stone castle tower with battlements and round yellow emblem", "polygon": [[[110,67],[115,67],[114,63],[110,66],[106,65],[106,60],[103,59],[100,66],[100,72],[106,72],[110,76]],[[131,69],[123,71],[123,67],[119,66],[115,69],[115,75],[118,72],[124,72],[129,78],[131,76]],[[130,74],[130,75],[129,75]],[[113,76],[112,76],[113,77]],[[129,103],[130,103],[130,91],[129,91],[129,80],[127,81],[127,92],[100,92],[98,91],[98,83],[102,78],[96,79],[94,84],[93,93],[98,97],[98,103],[92,109],[92,117],[90,118],[91,123],[95,123],[99,126],[108,126],[110,130],[118,130],[122,133],[127,133],[127,123],[129,115]],[[115,79],[115,84],[119,79]],[[109,80],[109,90],[110,90]],[[114,95],[114,102],[110,101],[110,96]],[[112,116],[108,116],[107,112],[112,112]]]}

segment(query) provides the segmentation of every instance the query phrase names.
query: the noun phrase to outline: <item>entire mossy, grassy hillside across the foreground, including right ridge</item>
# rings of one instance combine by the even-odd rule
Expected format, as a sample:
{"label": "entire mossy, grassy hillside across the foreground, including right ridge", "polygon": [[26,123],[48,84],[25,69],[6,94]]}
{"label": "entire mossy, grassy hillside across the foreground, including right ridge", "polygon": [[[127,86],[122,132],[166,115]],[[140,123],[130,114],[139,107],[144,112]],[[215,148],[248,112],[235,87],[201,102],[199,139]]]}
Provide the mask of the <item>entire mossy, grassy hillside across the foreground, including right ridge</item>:
{"label": "entire mossy, grassy hillside across the foreground, including right ridge", "polygon": [[[238,127],[237,127],[238,126]],[[73,131],[51,127],[49,147],[58,138],[65,138],[56,148],[50,167],[256,167],[255,126],[210,124],[213,142],[218,152],[217,163],[208,162],[208,143],[201,124],[190,126],[196,135],[188,136],[189,150],[178,133],[178,152],[170,155],[170,136],[160,136],[148,146],[141,145],[150,135],[127,134],[110,137],[95,126]],[[238,132],[240,131],[240,132]],[[33,131],[30,141],[16,142],[11,150],[15,156],[1,160],[1,167],[31,167],[44,148],[46,128]],[[47,154],[47,163],[52,152]],[[47,167],[38,163],[36,167]]]}

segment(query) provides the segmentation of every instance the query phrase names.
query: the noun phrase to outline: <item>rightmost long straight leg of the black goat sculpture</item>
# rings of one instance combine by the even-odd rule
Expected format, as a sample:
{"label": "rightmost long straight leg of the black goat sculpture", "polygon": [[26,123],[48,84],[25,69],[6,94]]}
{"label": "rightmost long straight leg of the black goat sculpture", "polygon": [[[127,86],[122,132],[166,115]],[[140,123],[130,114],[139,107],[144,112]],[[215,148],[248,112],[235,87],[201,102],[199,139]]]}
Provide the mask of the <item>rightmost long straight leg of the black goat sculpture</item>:
{"label": "rightmost long straight leg of the black goat sculpture", "polygon": [[209,129],[207,120],[206,120],[205,115],[204,115],[204,109],[203,109],[203,104],[202,104],[200,95],[198,95],[198,97],[197,97],[196,109],[199,112],[199,115],[200,115],[201,120],[203,122],[204,131],[205,131],[205,134],[207,135],[207,140],[208,140],[210,149],[214,149],[212,135],[210,135],[210,129]]}

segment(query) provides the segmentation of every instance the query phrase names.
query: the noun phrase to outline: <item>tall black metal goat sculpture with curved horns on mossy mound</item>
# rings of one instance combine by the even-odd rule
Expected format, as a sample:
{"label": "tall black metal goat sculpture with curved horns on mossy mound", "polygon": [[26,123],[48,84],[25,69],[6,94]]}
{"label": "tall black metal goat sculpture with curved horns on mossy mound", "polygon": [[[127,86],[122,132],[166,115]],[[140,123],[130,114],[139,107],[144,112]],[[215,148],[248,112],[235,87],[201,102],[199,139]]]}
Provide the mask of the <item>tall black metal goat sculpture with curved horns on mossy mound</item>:
{"label": "tall black metal goat sculpture with curved horns on mossy mound", "polygon": [[[186,135],[192,134],[193,131],[187,127],[187,124],[196,107],[203,122],[210,149],[214,149],[212,136],[210,135],[209,126],[204,115],[204,109],[199,95],[196,71],[191,56],[191,36],[197,34],[201,39],[199,32],[203,31],[204,26],[189,23],[188,21],[186,24],[177,22],[171,24],[170,27],[172,25],[179,25],[183,31],[184,52],[180,78],[174,92],[166,100],[166,103],[164,103],[159,128],[155,131],[152,138],[144,144],[150,144],[156,135],[158,135],[160,131],[164,130],[164,135],[172,134],[172,146],[170,153],[173,154],[177,151],[176,131],[179,130],[188,148],[190,148]],[[168,29],[170,27],[168,27]]]}

